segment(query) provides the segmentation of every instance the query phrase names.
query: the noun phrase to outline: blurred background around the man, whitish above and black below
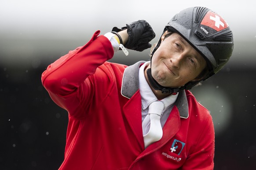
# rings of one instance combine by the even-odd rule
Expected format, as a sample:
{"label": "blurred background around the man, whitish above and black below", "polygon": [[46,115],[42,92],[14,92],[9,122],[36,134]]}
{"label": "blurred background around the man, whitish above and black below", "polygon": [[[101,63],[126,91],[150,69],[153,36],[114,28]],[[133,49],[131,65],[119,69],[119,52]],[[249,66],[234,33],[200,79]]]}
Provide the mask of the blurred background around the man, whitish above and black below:
{"label": "blurred background around the man, whitish above and black below", "polygon": [[[154,9],[151,0],[139,1],[137,6],[131,0],[123,10],[129,15],[114,19],[105,8],[113,2],[0,2],[0,170],[56,170],[62,163],[68,120],[66,111],[53,103],[41,84],[49,64],[87,43],[97,29],[104,34],[138,19],[150,23],[157,35],[152,43],[156,43],[170,18],[191,6],[206,6],[221,14],[235,39],[233,56],[223,70],[191,90],[213,117],[215,169],[255,170],[255,2],[232,2],[233,9],[228,11],[229,3],[221,0],[216,4],[160,1]],[[122,5],[114,7],[120,10]],[[252,14],[244,17],[241,10]],[[158,14],[161,17],[156,18]],[[150,59],[149,50],[129,53],[125,57],[117,52],[110,61],[131,65]]]}

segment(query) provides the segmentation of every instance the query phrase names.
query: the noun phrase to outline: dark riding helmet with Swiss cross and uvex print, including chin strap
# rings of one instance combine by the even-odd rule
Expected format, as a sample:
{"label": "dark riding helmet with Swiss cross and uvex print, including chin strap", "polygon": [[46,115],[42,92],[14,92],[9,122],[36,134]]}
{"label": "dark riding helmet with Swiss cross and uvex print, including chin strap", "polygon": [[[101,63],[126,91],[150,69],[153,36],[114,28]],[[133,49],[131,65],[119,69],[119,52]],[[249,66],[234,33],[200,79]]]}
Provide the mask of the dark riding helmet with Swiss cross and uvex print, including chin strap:
{"label": "dark riding helmet with Swiss cross and uvex print, including chin strap", "polygon": [[[233,52],[233,34],[227,22],[206,7],[190,7],[180,11],[165,25],[164,32],[166,30],[181,35],[205,58],[210,72],[200,81],[216,74],[227,63]],[[161,38],[151,53],[152,57],[160,44]],[[200,82],[190,81],[182,87],[170,88],[159,85],[152,77],[151,69],[147,70],[147,74],[150,84],[162,93],[172,94],[191,89]]]}

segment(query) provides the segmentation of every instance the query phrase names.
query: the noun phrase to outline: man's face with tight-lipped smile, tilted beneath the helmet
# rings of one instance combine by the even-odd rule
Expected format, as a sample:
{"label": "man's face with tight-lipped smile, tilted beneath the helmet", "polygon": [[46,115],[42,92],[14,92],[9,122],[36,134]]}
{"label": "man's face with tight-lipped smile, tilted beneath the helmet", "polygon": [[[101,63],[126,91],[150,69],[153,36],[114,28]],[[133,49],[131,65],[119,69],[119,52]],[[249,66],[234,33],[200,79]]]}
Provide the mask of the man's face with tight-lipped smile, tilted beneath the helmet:
{"label": "man's face with tight-lipped smile, tilted beneath the helmet", "polygon": [[[166,32],[165,32],[166,33]],[[152,58],[153,78],[165,87],[181,87],[195,79],[206,67],[206,61],[179,34],[165,38]]]}

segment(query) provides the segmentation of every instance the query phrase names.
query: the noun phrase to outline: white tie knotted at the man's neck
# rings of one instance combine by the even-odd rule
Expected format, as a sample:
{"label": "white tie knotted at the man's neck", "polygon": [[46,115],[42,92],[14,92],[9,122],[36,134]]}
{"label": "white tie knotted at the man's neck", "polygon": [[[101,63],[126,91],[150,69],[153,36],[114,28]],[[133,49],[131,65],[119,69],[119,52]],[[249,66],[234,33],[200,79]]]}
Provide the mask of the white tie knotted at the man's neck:
{"label": "white tie knotted at the man's neck", "polygon": [[[160,118],[164,107],[165,105],[161,101],[155,101],[149,105],[148,114],[142,122],[145,148],[148,147],[148,145],[159,141],[163,136]],[[150,127],[148,128],[148,126]],[[148,132],[147,129],[149,129]]]}

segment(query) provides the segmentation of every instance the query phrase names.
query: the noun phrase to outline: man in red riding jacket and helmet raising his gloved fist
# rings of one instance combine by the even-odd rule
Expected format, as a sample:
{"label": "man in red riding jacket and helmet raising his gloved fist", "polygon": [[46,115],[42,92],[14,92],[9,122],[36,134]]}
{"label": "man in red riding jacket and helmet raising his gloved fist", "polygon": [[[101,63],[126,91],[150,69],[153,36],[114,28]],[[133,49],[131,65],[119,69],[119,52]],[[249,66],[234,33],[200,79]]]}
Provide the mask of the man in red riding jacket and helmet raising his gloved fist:
{"label": "man in red riding jacket and helmet raising his gloved fist", "polygon": [[[42,83],[67,110],[60,170],[213,169],[214,128],[188,91],[229,60],[233,35],[206,7],[191,7],[165,26],[151,61],[107,62],[119,48],[143,51],[155,34],[146,21],[95,32],[48,66]],[[124,45],[124,46],[123,46]]]}

